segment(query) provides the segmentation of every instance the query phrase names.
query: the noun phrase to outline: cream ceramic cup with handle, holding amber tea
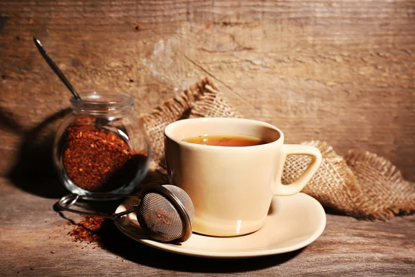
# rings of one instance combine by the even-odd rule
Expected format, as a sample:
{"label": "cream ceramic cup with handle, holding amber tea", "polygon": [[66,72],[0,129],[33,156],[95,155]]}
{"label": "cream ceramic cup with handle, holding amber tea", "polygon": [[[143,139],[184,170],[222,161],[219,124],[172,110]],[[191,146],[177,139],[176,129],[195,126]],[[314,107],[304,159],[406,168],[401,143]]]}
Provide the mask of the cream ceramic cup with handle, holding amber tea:
{"label": "cream ceramic cup with handle, holding amber tea", "polygon": [[[189,143],[205,134],[241,134],[269,143],[229,147]],[[281,183],[286,157],[310,156],[311,163],[293,184]],[[274,195],[299,193],[322,161],[310,145],[284,145],[273,125],[241,118],[191,118],[165,128],[165,158],[170,182],[183,188],[194,204],[193,231],[205,235],[252,233],[266,220]]]}

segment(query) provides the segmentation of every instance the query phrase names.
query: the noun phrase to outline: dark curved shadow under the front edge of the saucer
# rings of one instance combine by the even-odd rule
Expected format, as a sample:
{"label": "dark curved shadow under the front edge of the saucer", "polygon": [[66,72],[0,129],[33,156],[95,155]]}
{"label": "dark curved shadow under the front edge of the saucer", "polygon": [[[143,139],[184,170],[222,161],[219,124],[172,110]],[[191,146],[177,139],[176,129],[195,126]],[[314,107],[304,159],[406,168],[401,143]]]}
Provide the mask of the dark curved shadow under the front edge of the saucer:
{"label": "dark curved shadow under the front edge of the saucer", "polygon": [[115,224],[107,222],[106,232],[102,235],[105,249],[124,260],[158,269],[185,272],[232,273],[253,271],[280,265],[295,258],[303,249],[273,256],[256,258],[199,258],[161,251],[140,244],[121,233]]}

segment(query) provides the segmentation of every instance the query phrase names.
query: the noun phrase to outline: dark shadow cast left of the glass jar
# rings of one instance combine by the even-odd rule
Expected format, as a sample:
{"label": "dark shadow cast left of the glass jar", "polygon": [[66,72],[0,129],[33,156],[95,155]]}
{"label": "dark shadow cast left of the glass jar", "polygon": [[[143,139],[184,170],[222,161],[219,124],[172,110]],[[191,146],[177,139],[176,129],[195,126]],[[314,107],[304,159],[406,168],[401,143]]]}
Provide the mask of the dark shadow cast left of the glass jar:
{"label": "dark shadow cast left of the glass jar", "polygon": [[68,193],[53,166],[53,140],[57,125],[70,109],[46,118],[33,129],[27,129],[0,107],[0,129],[21,137],[15,166],[8,172],[12,184],[33,195],[59,198]]}

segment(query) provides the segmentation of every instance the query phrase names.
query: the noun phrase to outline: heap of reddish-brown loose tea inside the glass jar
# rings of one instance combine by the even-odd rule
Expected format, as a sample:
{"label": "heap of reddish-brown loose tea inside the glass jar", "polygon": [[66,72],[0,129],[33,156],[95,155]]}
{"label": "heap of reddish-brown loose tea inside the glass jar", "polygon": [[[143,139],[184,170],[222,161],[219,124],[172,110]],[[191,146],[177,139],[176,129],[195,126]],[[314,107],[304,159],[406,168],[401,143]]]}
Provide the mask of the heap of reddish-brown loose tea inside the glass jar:
{"label": "heap of reddish-brown loose tea inside the glass jar", "polygon": [[107,192],[128,184],[147,154],[135,152],[107,128],[91,125],[95,118],[77,118],[66,129],[62,162],[66,175],[84,190]]}

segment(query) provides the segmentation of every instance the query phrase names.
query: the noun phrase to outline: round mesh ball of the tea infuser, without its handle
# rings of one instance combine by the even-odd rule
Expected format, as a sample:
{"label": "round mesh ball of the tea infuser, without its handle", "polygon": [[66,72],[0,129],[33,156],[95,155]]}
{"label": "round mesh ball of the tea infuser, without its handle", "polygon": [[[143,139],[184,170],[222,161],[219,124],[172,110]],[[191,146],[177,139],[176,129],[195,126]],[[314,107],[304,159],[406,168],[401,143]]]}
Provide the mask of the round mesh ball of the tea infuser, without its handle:
{"label": "round mesh ball of the tea infuser, without its handle", "polygon": [[[181,188],[172,185],[161,187],[174,195],[180,203],[170,199],[162,191],[150,190],[142,196],[138,205],[137,220],[141,228],[154,240],[160,242],[187,240],[194,217],[192,200]],[[178,206],[180,204],[184,211]],[[186,224],[186,220],[190,221],[190,224]]]}

